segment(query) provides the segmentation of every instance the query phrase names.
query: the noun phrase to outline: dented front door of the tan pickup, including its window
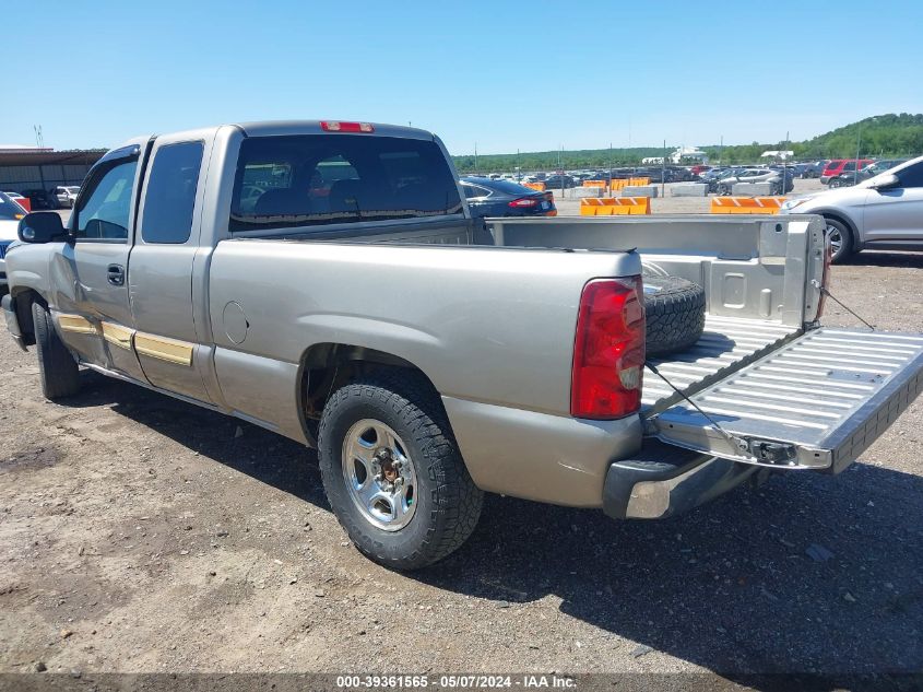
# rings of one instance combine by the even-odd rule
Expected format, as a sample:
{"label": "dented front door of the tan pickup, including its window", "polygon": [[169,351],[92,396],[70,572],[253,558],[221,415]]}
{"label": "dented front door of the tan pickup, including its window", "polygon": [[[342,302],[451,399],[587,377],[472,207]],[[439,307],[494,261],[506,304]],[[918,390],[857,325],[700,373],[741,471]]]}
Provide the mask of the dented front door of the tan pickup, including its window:
{"label": "dented front door of the tan pickup, including its window", "polygon": [[61,339],[83,362],[143,380],[126,282],[141,154],[142,144],[133,143],[91,169],[71,215],[73,241],[52,255],[49,277]]}

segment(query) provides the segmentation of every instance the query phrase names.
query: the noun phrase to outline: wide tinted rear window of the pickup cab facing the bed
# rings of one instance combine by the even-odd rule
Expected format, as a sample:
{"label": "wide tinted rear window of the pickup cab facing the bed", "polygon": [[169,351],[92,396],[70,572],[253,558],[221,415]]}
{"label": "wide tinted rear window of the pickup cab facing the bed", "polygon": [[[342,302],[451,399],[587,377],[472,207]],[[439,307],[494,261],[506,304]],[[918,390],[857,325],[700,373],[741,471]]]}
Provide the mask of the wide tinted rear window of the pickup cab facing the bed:
{"label": "wide tinted rear window of the pickup cab facing the bed", "polygon": [[232,231],[291,228],[461,213],[435,142],[362,134],[244,140]]}

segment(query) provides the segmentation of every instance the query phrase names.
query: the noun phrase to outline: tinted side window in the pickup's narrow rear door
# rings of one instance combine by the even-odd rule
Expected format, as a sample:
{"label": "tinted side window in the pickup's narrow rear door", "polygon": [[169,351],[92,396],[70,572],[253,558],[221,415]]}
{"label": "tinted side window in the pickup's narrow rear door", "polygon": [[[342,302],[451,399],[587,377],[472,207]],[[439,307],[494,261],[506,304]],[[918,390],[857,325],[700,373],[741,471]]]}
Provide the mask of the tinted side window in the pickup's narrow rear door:
{"label": "tinted side window in the pickup's narrow rear door", "polygon": [[144,192],[141,237],[145,243],[189,239],[202,151],[202,142],[167,144],[157,150]]}

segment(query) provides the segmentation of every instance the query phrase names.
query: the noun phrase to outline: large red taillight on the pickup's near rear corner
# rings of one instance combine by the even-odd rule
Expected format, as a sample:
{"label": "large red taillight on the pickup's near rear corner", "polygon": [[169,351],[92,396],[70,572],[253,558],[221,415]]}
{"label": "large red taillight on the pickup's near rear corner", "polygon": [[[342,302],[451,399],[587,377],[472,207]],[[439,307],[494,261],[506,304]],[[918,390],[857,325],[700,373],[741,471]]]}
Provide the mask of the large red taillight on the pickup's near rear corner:
{"label": "large red taillight on the pickup's near rear corner", "polygon": [[577,314],[570,414],[615,419],[641,408],[644,304],[640,277],[595,279]]}

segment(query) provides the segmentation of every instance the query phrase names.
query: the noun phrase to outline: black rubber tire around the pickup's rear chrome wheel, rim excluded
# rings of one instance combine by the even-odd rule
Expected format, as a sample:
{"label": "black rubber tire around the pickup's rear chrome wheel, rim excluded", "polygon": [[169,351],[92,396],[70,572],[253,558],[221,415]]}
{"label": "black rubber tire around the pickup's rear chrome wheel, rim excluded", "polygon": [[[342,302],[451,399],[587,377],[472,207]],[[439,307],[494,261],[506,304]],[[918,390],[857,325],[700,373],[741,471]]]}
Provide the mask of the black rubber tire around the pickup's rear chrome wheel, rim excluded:
{"label": "black rubber tire around the pickup's rear chrome wheel, rim excluded", "polygon": [[[415,469],[416,506],[397,530],[376,526],[347,486],[344,442],[365,420],[390,427]],[[457,550],[477,526],[484,493],[471,480],[438,395],[413,374],[381,373],[336,390],[323,408],[318,451],[333,513],[356,548],[379,564],[425,567]]]}

